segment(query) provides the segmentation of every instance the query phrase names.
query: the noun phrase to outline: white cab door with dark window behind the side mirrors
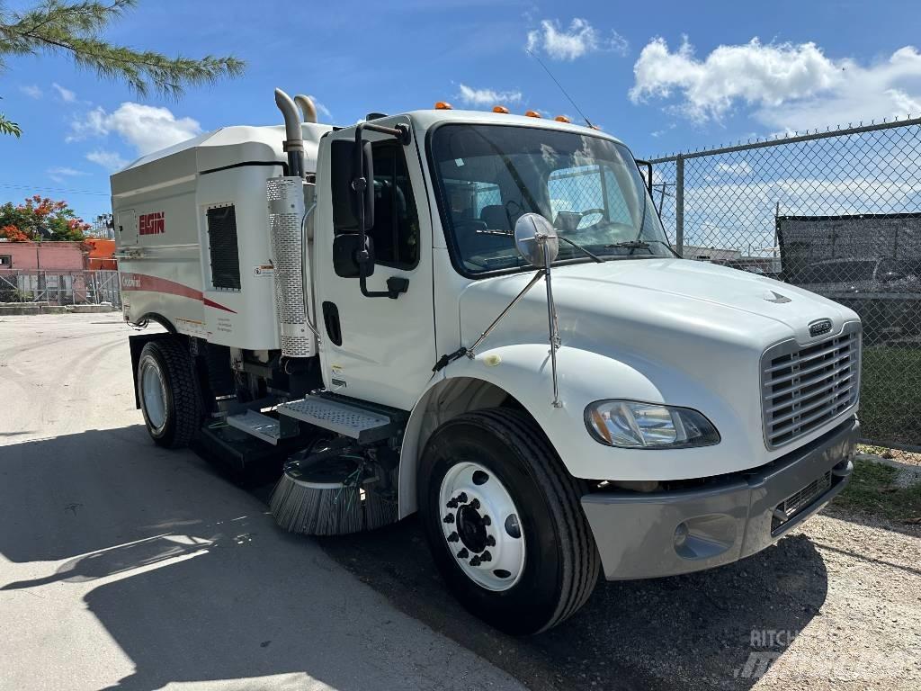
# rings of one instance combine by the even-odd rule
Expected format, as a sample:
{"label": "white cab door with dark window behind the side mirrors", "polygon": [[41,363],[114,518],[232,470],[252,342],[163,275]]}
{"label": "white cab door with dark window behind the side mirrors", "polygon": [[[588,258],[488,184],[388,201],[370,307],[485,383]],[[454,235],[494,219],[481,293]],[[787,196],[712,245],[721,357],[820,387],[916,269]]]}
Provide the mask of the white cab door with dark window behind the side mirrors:
{"label": "white cab door with dark window behind the side mirrors", "polygon": [[[393,127],[406,117],[375,121]],[[332,242],[357,231],[347,185],[354,177],[350,144],[355,129],[324,138],[318,167],[314,266],[323,383],[351,398],[410,410],[432,377],[435,322],[432,297],[431,215],[415,137],[402,145],[388,135],[366,132],[372,142],[375,179],[374,274],[367,291],[386,292],[389,278],[408,281],[396,299],[369,298],[357,278],[336,275]],[[341,151],[336,149],[340,148]],[[336,182],[340,181],[340,182]]]}

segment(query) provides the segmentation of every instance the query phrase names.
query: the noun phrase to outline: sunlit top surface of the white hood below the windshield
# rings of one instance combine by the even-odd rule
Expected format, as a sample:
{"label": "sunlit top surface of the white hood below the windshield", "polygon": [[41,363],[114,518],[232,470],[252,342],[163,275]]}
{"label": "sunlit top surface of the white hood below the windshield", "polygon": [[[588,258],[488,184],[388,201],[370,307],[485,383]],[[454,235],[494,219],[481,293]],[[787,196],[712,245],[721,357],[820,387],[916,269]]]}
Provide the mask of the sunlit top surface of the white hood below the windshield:
{"label": "sunlit top surface of the white hood below the windshield", "polygon": [[[530,276],[507,275],[472,283],[461,294],[461,335],[470,344],[523,288]],[[763,352],[795,337],[812,340],[809,325],[831,320],[833,333],[857,315],[830,299],[764,276],[682,259],[614,260],[554,267],[554,301],[563,345],[649,354],[682,349],[673,340],[733,342]],[[506,323],[508,322],[508,323]],[[543,283],[509,312],[495,338],[522,330],[546,338]],[[494,336],[491,334],[490,338]],[[683,345],[690,345],[685,342]],[[670,359],[670,358],[669,358]]]}

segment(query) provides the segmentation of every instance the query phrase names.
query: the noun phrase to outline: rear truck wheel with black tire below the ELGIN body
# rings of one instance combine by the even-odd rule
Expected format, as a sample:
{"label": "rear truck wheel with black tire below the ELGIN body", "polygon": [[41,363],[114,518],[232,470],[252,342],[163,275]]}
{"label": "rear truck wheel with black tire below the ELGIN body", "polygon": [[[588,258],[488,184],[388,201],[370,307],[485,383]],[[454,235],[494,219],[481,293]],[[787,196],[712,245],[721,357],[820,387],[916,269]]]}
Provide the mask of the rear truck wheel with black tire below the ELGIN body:
{"label": "rear truck wheel with black tire below the ELGIN body", "polygon": [[147,433],[158,446],[187,446],[202,422],[202,403],[192,355],[181,338],[144,346],[137,362],[137,397]]}

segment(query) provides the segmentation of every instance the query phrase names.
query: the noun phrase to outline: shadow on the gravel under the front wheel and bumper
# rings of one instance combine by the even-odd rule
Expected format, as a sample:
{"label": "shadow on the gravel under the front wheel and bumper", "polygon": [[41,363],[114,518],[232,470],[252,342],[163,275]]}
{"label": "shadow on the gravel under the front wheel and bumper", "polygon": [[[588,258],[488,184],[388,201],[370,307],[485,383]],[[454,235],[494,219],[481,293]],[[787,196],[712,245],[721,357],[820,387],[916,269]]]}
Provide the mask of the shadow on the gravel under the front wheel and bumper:
{"label": "shadow on the gravel under the front wheel and bumper", "polygon": [[828,586],[822,556],[798,534],[702,573],[602,580],[562,626],[511,638],[449,596],[414,517],[373,533],[324,538],[321,546],[404,612],[533,689],[750,688],[764,660],[783,653],[763,645],[766,637],[806,627]]}

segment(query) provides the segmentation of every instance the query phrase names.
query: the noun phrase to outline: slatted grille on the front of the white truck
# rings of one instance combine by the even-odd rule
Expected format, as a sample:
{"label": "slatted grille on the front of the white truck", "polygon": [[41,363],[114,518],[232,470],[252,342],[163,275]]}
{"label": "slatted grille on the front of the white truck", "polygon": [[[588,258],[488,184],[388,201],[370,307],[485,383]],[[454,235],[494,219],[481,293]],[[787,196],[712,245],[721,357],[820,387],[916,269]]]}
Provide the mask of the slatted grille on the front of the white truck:
{"label": "slatted grille on the front of the white truck", "polygon": [[818,343],[785,341],[762,358],[764,441],[776,449],[809,434],[857,404],[860,324]]}

